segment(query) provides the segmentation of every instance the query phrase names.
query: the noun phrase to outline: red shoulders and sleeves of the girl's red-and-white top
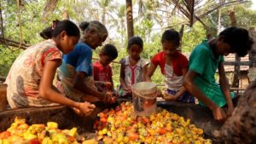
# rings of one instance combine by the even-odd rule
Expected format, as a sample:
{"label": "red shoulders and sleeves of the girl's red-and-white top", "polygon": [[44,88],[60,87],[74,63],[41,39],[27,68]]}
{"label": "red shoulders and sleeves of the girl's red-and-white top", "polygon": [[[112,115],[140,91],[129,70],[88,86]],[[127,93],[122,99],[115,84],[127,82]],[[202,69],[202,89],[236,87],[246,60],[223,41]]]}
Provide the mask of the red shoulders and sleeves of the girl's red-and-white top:
{"label": "red shoulders and sleeves of the girl's red-and-white top", "polygon": [[[165,65],[166,65],[166,56],[164,54],[164,52],[160,52],[157,55],[154,55],[153,59],[151,60],[151,62],[155,65],[155,66],[160,66],[161,68],[161,72],[163,74],[165,74]],[[172,67],[173,67],[173,72],[177,75],[177,76],[182,76],[183,72],[182,69],[183,68],[188,68],[189,67],[189,60],[187,59],[187,57],[183,54],[181,54],[180,52],[176,52],[173,55],[173,59],[172,59]]]}

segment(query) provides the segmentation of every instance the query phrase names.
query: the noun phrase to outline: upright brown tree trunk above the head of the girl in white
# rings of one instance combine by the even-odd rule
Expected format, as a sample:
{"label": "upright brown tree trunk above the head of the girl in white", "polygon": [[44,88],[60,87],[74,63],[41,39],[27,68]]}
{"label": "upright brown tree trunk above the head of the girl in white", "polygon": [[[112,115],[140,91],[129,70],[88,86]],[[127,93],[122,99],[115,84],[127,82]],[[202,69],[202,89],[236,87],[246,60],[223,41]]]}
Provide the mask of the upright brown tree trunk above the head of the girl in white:
{"label": "upright brown tree trunk above the head of the girl in white", "polygon": [[134,35],[133,17],[132,17],[132,0],[126,0],[126,20],[128,39]]}

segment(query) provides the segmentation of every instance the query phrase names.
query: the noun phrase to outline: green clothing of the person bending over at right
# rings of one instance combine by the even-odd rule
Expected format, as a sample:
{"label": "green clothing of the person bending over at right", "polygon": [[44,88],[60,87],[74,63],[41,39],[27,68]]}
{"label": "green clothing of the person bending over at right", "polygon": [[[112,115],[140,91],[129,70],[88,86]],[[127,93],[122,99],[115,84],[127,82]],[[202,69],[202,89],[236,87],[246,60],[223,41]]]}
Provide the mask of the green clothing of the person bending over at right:
{"label": "green clothing of the person bending over at right", "polygon": [[[194,83],[218,107],[223,107],[226,104],[224,94],[214,78],[218,64],[223,61],[223,55],[218,57],[213,55],[212,49],[206,40],[197,45],[189,56],[189,70],[198,74]],[[235,97],[234,93],[230,95],[232,98]],[[199,104],[205,106],[201,101],[199,101]]]}

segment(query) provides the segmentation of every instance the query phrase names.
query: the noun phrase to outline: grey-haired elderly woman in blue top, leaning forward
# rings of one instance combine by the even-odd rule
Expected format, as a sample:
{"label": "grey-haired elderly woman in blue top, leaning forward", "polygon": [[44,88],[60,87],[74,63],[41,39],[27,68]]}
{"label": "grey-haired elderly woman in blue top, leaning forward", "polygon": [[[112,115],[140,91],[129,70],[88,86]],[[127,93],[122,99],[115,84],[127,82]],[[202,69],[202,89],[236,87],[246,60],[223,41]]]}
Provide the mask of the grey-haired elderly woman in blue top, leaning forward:
{"label": "grey-haired elderly woman in blue top, leaning forward", "polygon": [[83,35],[74,50],[68,55],[63,55],[55,85],[74,101],[108,103],[112,101],[112,94],[98,91],[91,77],[92,49],[102,45],[108,37],[108,31],[99,21],[84,21],[79,27]]}

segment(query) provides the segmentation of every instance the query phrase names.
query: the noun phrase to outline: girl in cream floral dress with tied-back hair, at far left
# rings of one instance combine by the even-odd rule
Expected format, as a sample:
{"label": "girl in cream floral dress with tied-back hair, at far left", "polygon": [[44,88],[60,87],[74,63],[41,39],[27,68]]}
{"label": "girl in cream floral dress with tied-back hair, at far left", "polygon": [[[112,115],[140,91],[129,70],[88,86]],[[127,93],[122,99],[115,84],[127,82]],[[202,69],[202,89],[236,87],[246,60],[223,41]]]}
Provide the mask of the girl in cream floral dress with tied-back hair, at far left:
{"label": "girl in cream floral dress with tied-back hair, at far left", "polygon": [[66,105],[89,115],[94,105],[61,95],[53,86],[62,53],[71,52],[79,42],[79,27],[70,20],[55,20],[40,34],[44,42],[32,45],[15,60],[6,78],[7,99],[11,108]]}

